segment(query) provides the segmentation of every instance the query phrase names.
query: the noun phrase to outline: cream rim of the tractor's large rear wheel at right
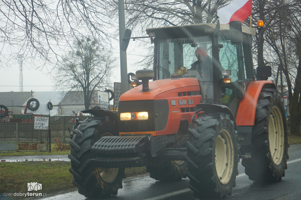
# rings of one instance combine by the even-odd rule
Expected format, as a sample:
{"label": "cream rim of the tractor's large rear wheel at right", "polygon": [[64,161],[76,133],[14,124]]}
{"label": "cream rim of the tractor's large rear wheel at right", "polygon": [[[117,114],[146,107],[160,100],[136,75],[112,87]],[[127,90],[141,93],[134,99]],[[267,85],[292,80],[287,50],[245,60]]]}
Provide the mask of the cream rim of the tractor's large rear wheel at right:
{"label": "cream rim of the tractor's large rear wheel at right", "polygon": [[272,108],[268,121],[268,142],[272,159],[279,165],[284,153],[284,127],[282,114],[278,106]]}

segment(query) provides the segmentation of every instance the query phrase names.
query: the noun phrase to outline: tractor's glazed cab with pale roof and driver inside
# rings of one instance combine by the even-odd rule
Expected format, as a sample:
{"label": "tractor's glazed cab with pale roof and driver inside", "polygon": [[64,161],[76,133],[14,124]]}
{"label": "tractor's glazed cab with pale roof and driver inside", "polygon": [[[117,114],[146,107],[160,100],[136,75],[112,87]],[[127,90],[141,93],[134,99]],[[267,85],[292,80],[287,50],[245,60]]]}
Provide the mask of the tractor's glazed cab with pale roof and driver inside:
{"label": "tractor's glazed cab with pale roof and driver inside", "polygon": [[234,31],[227,24],[172,26],[146,32],[155,45],[154,80],[195,77],[204,102],[228,107],[234,99],[243,98],[244,82],[255,80],[251,55],[253,28],[242,26],[239,44],[231,41]]}

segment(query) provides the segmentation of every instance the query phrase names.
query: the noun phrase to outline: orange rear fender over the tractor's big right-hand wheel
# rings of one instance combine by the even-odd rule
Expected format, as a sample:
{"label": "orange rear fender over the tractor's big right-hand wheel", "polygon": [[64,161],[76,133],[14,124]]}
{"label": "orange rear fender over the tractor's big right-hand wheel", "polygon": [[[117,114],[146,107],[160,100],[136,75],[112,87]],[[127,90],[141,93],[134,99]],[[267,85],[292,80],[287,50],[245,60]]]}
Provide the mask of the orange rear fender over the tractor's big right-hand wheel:
{"label": "orange rear fender over the tractor's big right-hand wheel", "polygon": [[276,89],[276,86],[270,80],[256,80],[250,82],[246,91],[246,95],[240,101],[237,110],[237,126],[254,126],[257,100],[263,88]]}

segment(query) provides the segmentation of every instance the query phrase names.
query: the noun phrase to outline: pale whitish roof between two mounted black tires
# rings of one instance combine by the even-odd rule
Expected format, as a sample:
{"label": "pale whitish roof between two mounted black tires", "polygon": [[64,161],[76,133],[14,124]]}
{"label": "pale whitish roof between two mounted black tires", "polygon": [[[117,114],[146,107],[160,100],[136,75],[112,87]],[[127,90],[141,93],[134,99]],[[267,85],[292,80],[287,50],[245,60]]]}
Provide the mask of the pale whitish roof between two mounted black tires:
{"label": "pale whitish roof between two mounted black tires", "polygon": [[[36,98],[40,103],[48,103],[50,100],[52,105],[59,105],[63,97],[64,97],[63,92],[52,91],[52,92],[34,92],[33,97],[29,97],[29,98]],[[26,105],[29,98],[26,99],[26,102],[24,102],[23,106]]]}

